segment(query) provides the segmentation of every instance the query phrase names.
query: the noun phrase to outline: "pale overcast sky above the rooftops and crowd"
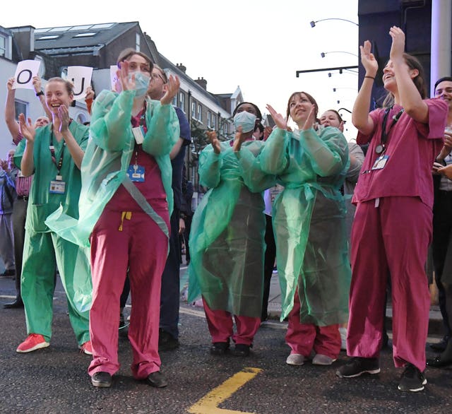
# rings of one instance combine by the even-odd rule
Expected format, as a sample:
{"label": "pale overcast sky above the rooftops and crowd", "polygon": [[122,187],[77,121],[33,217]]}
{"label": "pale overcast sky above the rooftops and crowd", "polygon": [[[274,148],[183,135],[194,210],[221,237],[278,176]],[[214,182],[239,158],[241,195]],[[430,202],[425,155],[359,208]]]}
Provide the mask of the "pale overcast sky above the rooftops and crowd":
{"label": "pale overcast sky above the rooftops and crowd", "polygon": [[[224,3],[78,0],[53,2],[46,13],[44,4],[23,0],[20,7],[11,1],[2,4],[0,25],[46,28],[138,21],[161,54],[174,64],[184,64],[191,78],[205,78],[211,93],[232,93],[239,85],[244,99],[256,103],[262,112],[267,112],[265,105],[270,103],[278,112],[285,113],[290,94],[305,90],[316,98],[323,112],[340,107],[352,110],[357,74],[336,72],[328,77],[328,72],[320,72],[297,78],[295,73],[358,64],[358,58],[353,56],[358,54],[358,28],[342,20],[322,21],[315,28],[309,22],[343,18],[358,23],[357,3],[357,0]],[[321,52],[340,53],[327,53],[321,58]],[[348,139],[355,138],[350,124]]]}

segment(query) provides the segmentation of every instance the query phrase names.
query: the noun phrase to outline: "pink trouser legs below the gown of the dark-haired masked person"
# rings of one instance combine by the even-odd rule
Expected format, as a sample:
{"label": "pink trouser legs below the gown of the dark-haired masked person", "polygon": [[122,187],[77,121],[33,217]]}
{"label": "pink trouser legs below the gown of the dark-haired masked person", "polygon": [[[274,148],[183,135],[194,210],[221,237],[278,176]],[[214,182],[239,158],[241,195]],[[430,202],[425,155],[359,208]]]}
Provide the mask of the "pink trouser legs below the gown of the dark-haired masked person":
{"label": "pink trouser legs below the gown of the dark-haired masked person", "polygon": [[234,333],[232,314],[230,312],[221,309],[210,309],[204,298],[203,305],[212,343],[229,343],[230,338],[232,338],[232,341],[236,344],[253,344],[254,336],[261,325],[261,318],[234,315],[235,326],[237,328],[237,333]]}

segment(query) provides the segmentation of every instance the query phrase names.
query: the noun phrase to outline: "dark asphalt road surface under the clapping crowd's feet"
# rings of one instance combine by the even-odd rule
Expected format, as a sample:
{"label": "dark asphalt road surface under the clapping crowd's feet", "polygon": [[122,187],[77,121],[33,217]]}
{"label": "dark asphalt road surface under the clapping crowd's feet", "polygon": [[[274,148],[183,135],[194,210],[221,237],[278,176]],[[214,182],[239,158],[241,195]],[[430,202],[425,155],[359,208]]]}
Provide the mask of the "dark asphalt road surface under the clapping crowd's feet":
{"label": "dark asphalt road surface under the clapping crowd's feet", "polygon": [[[0,305],[12,295],[13,280],[1,278]],[[285,364],[289,353],[285,324],[277,321],[258,331],[250,357],[213,357],[208,353],[202,309],[182,304],[181,310],[182,345],[161,353],[167,388],[153,389],[131,377],[131,349],[123,338],[119,341],[121,369],[112,388],[95,389],[86,372],[90,357],[78,352],[61,285],[55,291],[49,348],[16,353],[26,336],[23,310],[0,307],[0,413],[452,412],[452,369],[427,369],[425,391],[405,394],[397,389],[400,371],[393,367],[391,350],[381,354],[381,373],[375,376],[336,377],[335,368],[347,359],[345,353],[331,367],[310,363],[291,367]],[[244,377],[251,371],[258,373],[246,382]]]}

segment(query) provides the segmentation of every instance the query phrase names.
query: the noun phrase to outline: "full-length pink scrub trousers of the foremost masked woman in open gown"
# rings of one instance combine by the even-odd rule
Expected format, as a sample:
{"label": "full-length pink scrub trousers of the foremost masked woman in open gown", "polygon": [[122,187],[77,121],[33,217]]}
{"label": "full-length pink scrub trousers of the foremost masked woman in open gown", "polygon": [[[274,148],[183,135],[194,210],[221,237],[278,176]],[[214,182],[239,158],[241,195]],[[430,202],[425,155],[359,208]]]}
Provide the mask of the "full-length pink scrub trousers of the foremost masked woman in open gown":
{"label": "full-length pink scrub trousers of the foremost masked woman in open gown", "polygon": [[[124,193],[124,191],[122,191]],[[145,379],[160,370],[158,336],[160,286],[167,259],[168,239],[148,214],[130,199],[131,218],[118,210],[112,200],[105,207],[91,235],[93,305],[90,311],[90,337],[93,361],[88,374],[114,374],[119,370],[118,329],[119,298],[129,269],[131,285],[131,323],[133,377]],[[166,201],[155,211],[169,228]],[[121,226],[121,231],[119,227]]]}

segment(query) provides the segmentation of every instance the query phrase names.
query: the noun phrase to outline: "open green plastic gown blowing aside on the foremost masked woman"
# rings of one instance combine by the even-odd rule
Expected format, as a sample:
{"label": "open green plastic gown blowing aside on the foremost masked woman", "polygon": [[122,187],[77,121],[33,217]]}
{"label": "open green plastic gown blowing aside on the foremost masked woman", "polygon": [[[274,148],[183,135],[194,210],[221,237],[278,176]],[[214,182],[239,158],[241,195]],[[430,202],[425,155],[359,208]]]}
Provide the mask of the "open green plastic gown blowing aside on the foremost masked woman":
{"label": "open green plastic gown blowing aside on the foremost masked woman", "polygon": [[[127,169],[135,146],[131,129],[134,97],[134,90],[124,90],[119,94],[103,90],[94,102],[90,140],[81,166],[80,218],[76,220],[76,216],[65,214],[61,206],[46,220],[46,224],[64,239],[89,247],[90,234],[105,205],[128,179]],[[153,155],[160,167],[171,214],[172,167],[168,153],[179,139],[179,121],[172,105],[161,105],[150,99],[146,102],[145,122],[148,131],[144,136],[143,150]],[[138,204],[142,206],[140,202]],[[163,223],[160,217],[148,210],[147,203],[142,207],[156,222]],[[163,225],[165,227],[165,223]]]}

